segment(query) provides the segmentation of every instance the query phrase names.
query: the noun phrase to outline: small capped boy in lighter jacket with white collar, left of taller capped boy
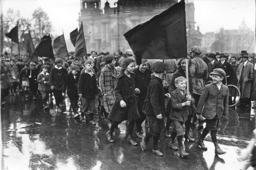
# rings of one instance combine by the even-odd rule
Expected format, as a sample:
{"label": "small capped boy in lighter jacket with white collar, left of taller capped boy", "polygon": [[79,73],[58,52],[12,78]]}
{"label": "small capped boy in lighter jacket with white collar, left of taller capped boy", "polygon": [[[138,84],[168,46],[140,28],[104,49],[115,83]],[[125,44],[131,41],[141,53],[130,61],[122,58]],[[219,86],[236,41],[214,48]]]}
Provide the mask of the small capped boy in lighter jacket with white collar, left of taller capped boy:
{"label": "small capped boy in lighter jacket with white collar, left of taller capped boy", "polygon": [[47,99],[49,99],[49,94],[50,94],[49,73],[47,73],[49,68],[50,67],[48,65],[43,65],[42,66],[43,71],[37,76],[38,90],[42,95],[44,110],[48,108]]}

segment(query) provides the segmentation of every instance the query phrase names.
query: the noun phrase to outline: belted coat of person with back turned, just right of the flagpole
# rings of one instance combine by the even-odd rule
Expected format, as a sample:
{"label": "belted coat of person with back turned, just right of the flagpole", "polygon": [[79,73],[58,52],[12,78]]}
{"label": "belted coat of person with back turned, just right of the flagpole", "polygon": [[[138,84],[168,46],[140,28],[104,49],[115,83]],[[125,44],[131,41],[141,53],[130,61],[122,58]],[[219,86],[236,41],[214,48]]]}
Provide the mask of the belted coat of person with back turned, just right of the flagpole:
{"label": "belted coat of person with back turned, just right of the flagpole", "polygon": [[208,67],[200,56],[194,56],[194,58],[191,60],[191,67],[189,68],[189,70],[194,76],[194,78],[192,79],[193,92],[191,93],[201,95],[204,89],[204,82],[208,78]]}

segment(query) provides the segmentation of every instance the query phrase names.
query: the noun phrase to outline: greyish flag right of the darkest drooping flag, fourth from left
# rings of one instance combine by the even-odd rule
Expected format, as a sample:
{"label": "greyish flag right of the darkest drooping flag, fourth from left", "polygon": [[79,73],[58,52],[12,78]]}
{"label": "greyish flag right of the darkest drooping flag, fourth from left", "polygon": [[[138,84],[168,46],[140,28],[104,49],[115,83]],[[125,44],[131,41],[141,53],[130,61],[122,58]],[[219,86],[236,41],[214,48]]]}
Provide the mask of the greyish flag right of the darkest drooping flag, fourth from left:
{"label": "greyish flag right of the darkest drooping flag, fourth from left", "polygon": [[68,50],[65,43],[64,34],[53,40],[52,47],[58,58],[68,58]]}

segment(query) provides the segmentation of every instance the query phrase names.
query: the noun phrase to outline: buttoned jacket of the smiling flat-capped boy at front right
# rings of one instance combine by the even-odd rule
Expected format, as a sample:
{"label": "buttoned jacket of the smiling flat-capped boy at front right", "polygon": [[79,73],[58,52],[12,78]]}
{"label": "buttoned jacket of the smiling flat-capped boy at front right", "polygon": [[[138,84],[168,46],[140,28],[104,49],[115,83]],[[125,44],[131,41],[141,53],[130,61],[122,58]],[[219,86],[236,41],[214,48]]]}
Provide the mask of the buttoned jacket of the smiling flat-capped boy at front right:
{"label": "buttoned jacket of the smiling flat-capped boy at front right", "polygon": [[[203,110],[203,113],[202,113]],[[228,87],[221,84],[220,90],[215,83],[207,84],[197,105],[198,115],[206,119],[213,119],[216,114],[218,118],[228,115]]]}

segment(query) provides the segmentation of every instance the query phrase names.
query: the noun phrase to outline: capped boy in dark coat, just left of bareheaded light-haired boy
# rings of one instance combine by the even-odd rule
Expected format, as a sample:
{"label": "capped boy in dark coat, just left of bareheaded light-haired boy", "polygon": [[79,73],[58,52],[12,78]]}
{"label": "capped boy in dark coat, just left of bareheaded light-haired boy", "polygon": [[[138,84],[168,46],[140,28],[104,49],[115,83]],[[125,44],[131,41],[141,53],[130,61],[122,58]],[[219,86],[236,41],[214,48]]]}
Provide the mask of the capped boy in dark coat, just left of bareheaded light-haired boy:
{"label": "capped boy in dark coat, just left of bareheaded light-haired boy", "polygon": [[71,72],[68,73],[64,80],[63,84],[63,90],[62,90],[62,96],[65,96],[66,91],[70,100],[70,107],[72,108],[74,112],[74,118],[80,116],[77,113],[76,106],[78,102],[78,90],[77,90],[77,84],[79,77],[77,76],[77,73],[80,72],[80,68],[77,65],[71,66]]}

